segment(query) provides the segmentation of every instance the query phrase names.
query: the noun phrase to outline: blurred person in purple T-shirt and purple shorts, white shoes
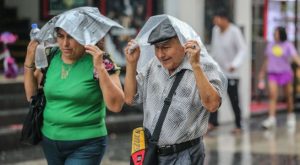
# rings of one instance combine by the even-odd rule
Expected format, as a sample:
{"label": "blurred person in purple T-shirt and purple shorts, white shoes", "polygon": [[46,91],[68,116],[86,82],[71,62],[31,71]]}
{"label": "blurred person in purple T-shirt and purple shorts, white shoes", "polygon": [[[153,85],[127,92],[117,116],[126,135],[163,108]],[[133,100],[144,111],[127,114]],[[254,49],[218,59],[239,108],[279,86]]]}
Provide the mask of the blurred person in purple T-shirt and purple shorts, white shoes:
{"label": "blurred person in purple T-shirt and purple shorts, white shoes", "polygon": [[259,73],[259,81],[264,81],[267,75],[269,86],[269,116],[262,122],[263,128],[276,127],[276,104],[279,87],[283,87],[287,100],[287,126],[295,128],[296,116],[293,104],[293,71],[291,62],[300,66],[300,58],[294,45],[287,40],[284,27],[277,27],[274,32],[274,42],[268,43],[265,58]]}

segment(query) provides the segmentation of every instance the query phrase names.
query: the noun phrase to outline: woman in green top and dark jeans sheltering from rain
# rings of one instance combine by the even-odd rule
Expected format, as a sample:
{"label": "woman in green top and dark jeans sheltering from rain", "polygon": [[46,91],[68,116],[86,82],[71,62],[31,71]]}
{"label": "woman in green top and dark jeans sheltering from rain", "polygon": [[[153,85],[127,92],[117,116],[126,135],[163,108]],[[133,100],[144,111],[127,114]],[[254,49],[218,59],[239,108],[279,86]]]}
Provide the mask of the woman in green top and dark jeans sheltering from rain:
{"label": "woman in green top and dark jeans sheltering from rain", "polygon": [[[63,28],[56,28],[56,51],[48,67],[44,92],[47,100],[42,147],[50,165],[100,164],[106,147],[106,107],[120,112],[124,103],[118,71],[103,56],[99,41],[82,45]],[[42,73],[34,69],[31,41],[24,62],[27,100],[35,95]],[[103,59],[104,58],[104,59]]]}

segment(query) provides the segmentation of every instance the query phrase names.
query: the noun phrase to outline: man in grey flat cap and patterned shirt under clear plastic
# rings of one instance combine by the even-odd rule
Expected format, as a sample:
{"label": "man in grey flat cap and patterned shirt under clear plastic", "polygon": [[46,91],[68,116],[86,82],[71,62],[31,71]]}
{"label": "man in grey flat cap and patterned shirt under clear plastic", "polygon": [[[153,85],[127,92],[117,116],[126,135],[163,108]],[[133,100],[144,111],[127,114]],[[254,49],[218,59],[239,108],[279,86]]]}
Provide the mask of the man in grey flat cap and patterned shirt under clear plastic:
{"label": "man in grey flat cap and patterned shirt under clear plastic", "polygon": [[[136,44],[130,41],[125,48],[125,101],[143,105],[143,126],[153,134],[175,77],[185,70],[163,122],[158,159],[162,165],[203,164],[202,136],[207,131],[209,112],[221,104],[226,78],[186,23],[168,15],[153,16],[140,35],[140,47],[130,53]],[[153,58],[137,70],[138,61],[149,56]]]}

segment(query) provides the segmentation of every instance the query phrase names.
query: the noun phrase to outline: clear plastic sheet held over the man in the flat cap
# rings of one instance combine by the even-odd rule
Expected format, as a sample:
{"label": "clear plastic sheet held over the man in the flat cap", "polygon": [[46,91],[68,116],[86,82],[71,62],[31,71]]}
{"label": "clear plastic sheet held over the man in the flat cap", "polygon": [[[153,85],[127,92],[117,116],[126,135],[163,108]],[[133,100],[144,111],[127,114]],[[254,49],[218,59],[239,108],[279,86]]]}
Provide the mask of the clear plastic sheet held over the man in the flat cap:
{"label": "clear plastic sheet held over the man in the flat cap", "polygon": [[[198,42],[198,45],[201,48],[200,52],[200,61],[203,67],[211,67],[211,65],[207,65],[210,63],[213,63],[215,66],[217,66],[217,76],[220,77],[222,82],[222,91],[226,91],[227,88],[227,79],[223,72],[221,71],[220,67],[218,67],[218,64],[212,59],[212,57],[208,54],[205,46],[203,45],[200,36],[193,30],[191,26],[189,26],[187,23],[178,20],[175,17],[172,17],[170,15],[162,14],[162,15],[156,15],[152,16],[148,19],[148,21],[145,23],[143,28],[140,30],[138,35],[136,36],[135,40],[140,46],[141,49],[141,55],[140,59],[138,61],[137,71],[140,71],[143,66],[146,66],[146,64],[155,56],[154,46],[150,45],[148,43],[148,38],[150,33],[154,28],[156,28],[162,21],[165,19],[169,19],[173,28],[175,29],[177,36],[180,40],[180,43],[184,45],[188,40],[195,40]],[[204,68],[205,70],[205,68]],[[222,95],[226,93],[223,92]]]}

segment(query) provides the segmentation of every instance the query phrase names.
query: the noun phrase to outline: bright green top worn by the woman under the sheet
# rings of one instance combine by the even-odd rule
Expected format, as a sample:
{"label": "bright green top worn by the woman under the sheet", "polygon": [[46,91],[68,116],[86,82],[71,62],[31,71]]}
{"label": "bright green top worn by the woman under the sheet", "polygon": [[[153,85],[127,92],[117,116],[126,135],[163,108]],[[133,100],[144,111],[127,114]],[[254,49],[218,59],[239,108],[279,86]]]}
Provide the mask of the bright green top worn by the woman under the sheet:
{"label": "bright green top worn by the woman under the sheet", "polygon": [[[44,136],[53,140],[82,140],[107,135],[105,103],[93,69],[89,54],[74,64],[64,64],[60,51],[53,57],[44,86]],[[65,79],[62,70],[68,72]]]}

